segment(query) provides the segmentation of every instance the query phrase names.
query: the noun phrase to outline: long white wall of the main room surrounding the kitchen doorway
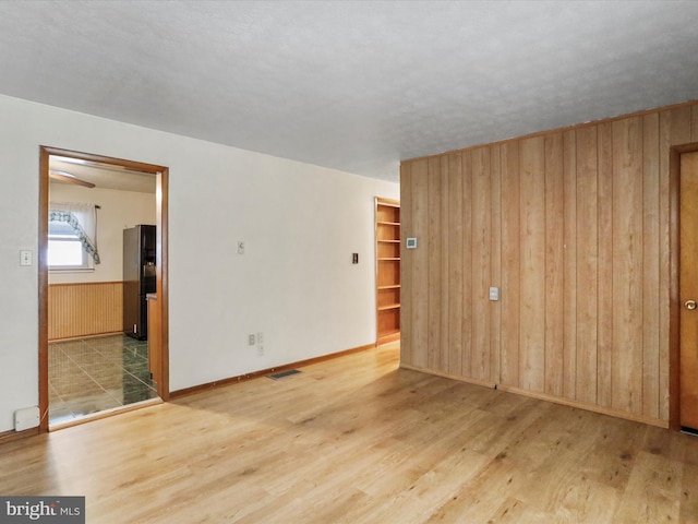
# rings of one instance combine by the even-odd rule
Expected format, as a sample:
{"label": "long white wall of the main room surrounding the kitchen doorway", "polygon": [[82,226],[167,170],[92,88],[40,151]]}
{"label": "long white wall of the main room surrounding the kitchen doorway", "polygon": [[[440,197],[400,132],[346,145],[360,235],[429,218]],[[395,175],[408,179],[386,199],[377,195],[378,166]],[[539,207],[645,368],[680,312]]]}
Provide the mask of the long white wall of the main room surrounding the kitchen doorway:
{"label": "long white wall of the main room surrounding the kitchen doorway", "polygon": [[172,391],[375,340],[373,196],[398,184],[0,96],[0,431],[38,403],[39,145],[170,168]]}

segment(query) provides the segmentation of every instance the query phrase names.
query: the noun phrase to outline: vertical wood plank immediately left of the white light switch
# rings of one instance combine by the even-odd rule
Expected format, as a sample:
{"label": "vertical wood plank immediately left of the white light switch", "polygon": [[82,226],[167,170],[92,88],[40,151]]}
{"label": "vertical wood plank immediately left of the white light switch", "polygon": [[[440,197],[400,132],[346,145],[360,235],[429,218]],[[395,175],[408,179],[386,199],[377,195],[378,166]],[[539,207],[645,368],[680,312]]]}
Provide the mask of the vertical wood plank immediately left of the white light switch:
{"label": "vertical wood plank immediately left of the white light switch", "polygon": [[472,152],[472,361],[471,377],[490,378],[490,155],[486,147]]}

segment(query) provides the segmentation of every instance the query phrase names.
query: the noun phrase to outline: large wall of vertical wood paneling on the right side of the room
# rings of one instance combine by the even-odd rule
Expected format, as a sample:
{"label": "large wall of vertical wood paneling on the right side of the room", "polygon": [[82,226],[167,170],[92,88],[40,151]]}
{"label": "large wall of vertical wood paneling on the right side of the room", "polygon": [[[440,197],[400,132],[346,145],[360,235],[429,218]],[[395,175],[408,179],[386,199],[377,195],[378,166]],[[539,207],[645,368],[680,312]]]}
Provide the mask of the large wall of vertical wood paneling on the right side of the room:
{"label": "large wall of vertical wood paneling on the right side of the room", "polygon": [[690,142],[698,103],[404,162],[401,366],[665,426]]}

